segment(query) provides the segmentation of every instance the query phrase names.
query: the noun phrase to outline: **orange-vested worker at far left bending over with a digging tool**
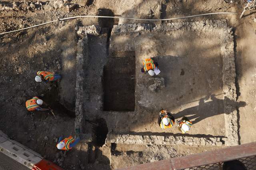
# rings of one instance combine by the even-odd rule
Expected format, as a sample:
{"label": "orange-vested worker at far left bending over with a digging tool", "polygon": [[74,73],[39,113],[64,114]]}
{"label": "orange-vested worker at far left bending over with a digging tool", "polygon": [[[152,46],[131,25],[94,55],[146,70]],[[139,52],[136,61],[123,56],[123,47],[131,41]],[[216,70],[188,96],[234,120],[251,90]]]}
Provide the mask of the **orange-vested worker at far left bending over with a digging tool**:
{"label": "orange-vested worker at far left bending over with a digging tool", "polygon": [[26,101],[26,108],[28,111],[51,111],[51,109],[44,109],[41,106],[46,105],[48,107],[48,104],[39,99],[39,97],[33,97],[32,99]]}

